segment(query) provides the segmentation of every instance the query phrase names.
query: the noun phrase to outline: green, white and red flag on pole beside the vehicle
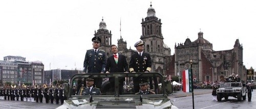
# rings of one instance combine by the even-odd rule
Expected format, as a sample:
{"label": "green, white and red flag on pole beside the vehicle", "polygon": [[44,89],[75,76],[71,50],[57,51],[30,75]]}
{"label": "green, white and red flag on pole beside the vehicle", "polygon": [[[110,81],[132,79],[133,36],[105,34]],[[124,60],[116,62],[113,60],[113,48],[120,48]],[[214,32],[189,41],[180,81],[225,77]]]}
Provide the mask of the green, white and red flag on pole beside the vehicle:
{"label": "green, white and red flag on pole beside the vehicle", "polygon": [[182,71],[183,92],[192,92],[191,69]]}

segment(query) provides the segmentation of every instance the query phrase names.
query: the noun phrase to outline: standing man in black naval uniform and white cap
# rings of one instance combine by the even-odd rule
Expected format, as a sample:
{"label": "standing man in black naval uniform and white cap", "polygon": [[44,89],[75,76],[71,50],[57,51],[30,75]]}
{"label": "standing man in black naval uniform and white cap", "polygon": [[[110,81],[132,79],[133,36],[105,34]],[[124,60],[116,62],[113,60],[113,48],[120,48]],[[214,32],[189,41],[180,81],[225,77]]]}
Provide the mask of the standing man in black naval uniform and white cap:
{"label": "standing man in black naval uniform and white cap", "polygon": [[[144,72],[144,73],[148,73],[151,71],[151,57],[150,54],[148,53],[144,53],[143,49],[144,49],[144,43],[142,40],[138,41],[135,43],[134,47],[136,47],[137,49],[137,53],[134,53],[131,57],[130,60],[130,72],[132,73],[136,73],[136,72]],[[139,92],[139,80],[141,79],[141,77],[135,77],[134,78],[134,92]],[[147,78],[143,78],[143,79],[147,79]]]}

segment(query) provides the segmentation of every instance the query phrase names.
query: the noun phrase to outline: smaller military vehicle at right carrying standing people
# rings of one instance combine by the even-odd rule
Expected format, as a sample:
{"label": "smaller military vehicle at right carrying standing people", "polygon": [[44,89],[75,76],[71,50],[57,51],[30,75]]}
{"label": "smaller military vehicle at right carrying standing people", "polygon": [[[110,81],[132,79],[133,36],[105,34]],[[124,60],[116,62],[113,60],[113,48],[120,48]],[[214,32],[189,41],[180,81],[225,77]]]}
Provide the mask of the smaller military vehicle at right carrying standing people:
{"label": "smaller military vehicle at right carrying standing people", "polygon": [[227,100],[230,96],[242,101],[242,98],[246,99],[246,84],[241,81],[222,82],[216,92],[218,101],[221,101],[223,97]]}

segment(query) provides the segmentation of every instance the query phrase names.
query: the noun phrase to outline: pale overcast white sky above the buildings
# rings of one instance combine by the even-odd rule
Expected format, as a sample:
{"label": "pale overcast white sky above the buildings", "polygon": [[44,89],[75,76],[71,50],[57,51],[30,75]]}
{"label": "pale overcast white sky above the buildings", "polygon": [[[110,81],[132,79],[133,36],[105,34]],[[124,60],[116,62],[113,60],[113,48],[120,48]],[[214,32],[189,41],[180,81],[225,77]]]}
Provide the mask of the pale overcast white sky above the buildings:
{"label": "pale overcast white sky above the buildings", "polygon": [[112,1],[0,1],[0,60],[22,56],[50,69],[83,69],[86,50],[103,19],[112,44],[121,35],[132,48],[140,40],[141,19],[152,7],[162,22],[164,43],[174,54],[175,43],[195,41],[198,32],[215,51],[231,50],[239,39],[243,62],[256,68],[256,1],[251,0],[112,0]]}

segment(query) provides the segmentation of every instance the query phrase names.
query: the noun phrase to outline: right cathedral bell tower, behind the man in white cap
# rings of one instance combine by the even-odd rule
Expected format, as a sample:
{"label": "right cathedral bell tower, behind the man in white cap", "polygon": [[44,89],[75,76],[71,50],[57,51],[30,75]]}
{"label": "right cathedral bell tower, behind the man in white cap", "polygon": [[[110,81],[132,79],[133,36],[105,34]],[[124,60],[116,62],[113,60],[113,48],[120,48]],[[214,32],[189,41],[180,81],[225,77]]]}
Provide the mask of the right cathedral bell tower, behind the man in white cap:
{"label": "right cathedral bell tower, behind the man in white cap", "polygon": [[164,74],[164,43],[161,31],[161,19],[156,17],[156,11],[150,5],[147,9],[147,17],[142,18],[142,35],[140,39],[144,42],[144,52],[151,54],[152,70]]}

